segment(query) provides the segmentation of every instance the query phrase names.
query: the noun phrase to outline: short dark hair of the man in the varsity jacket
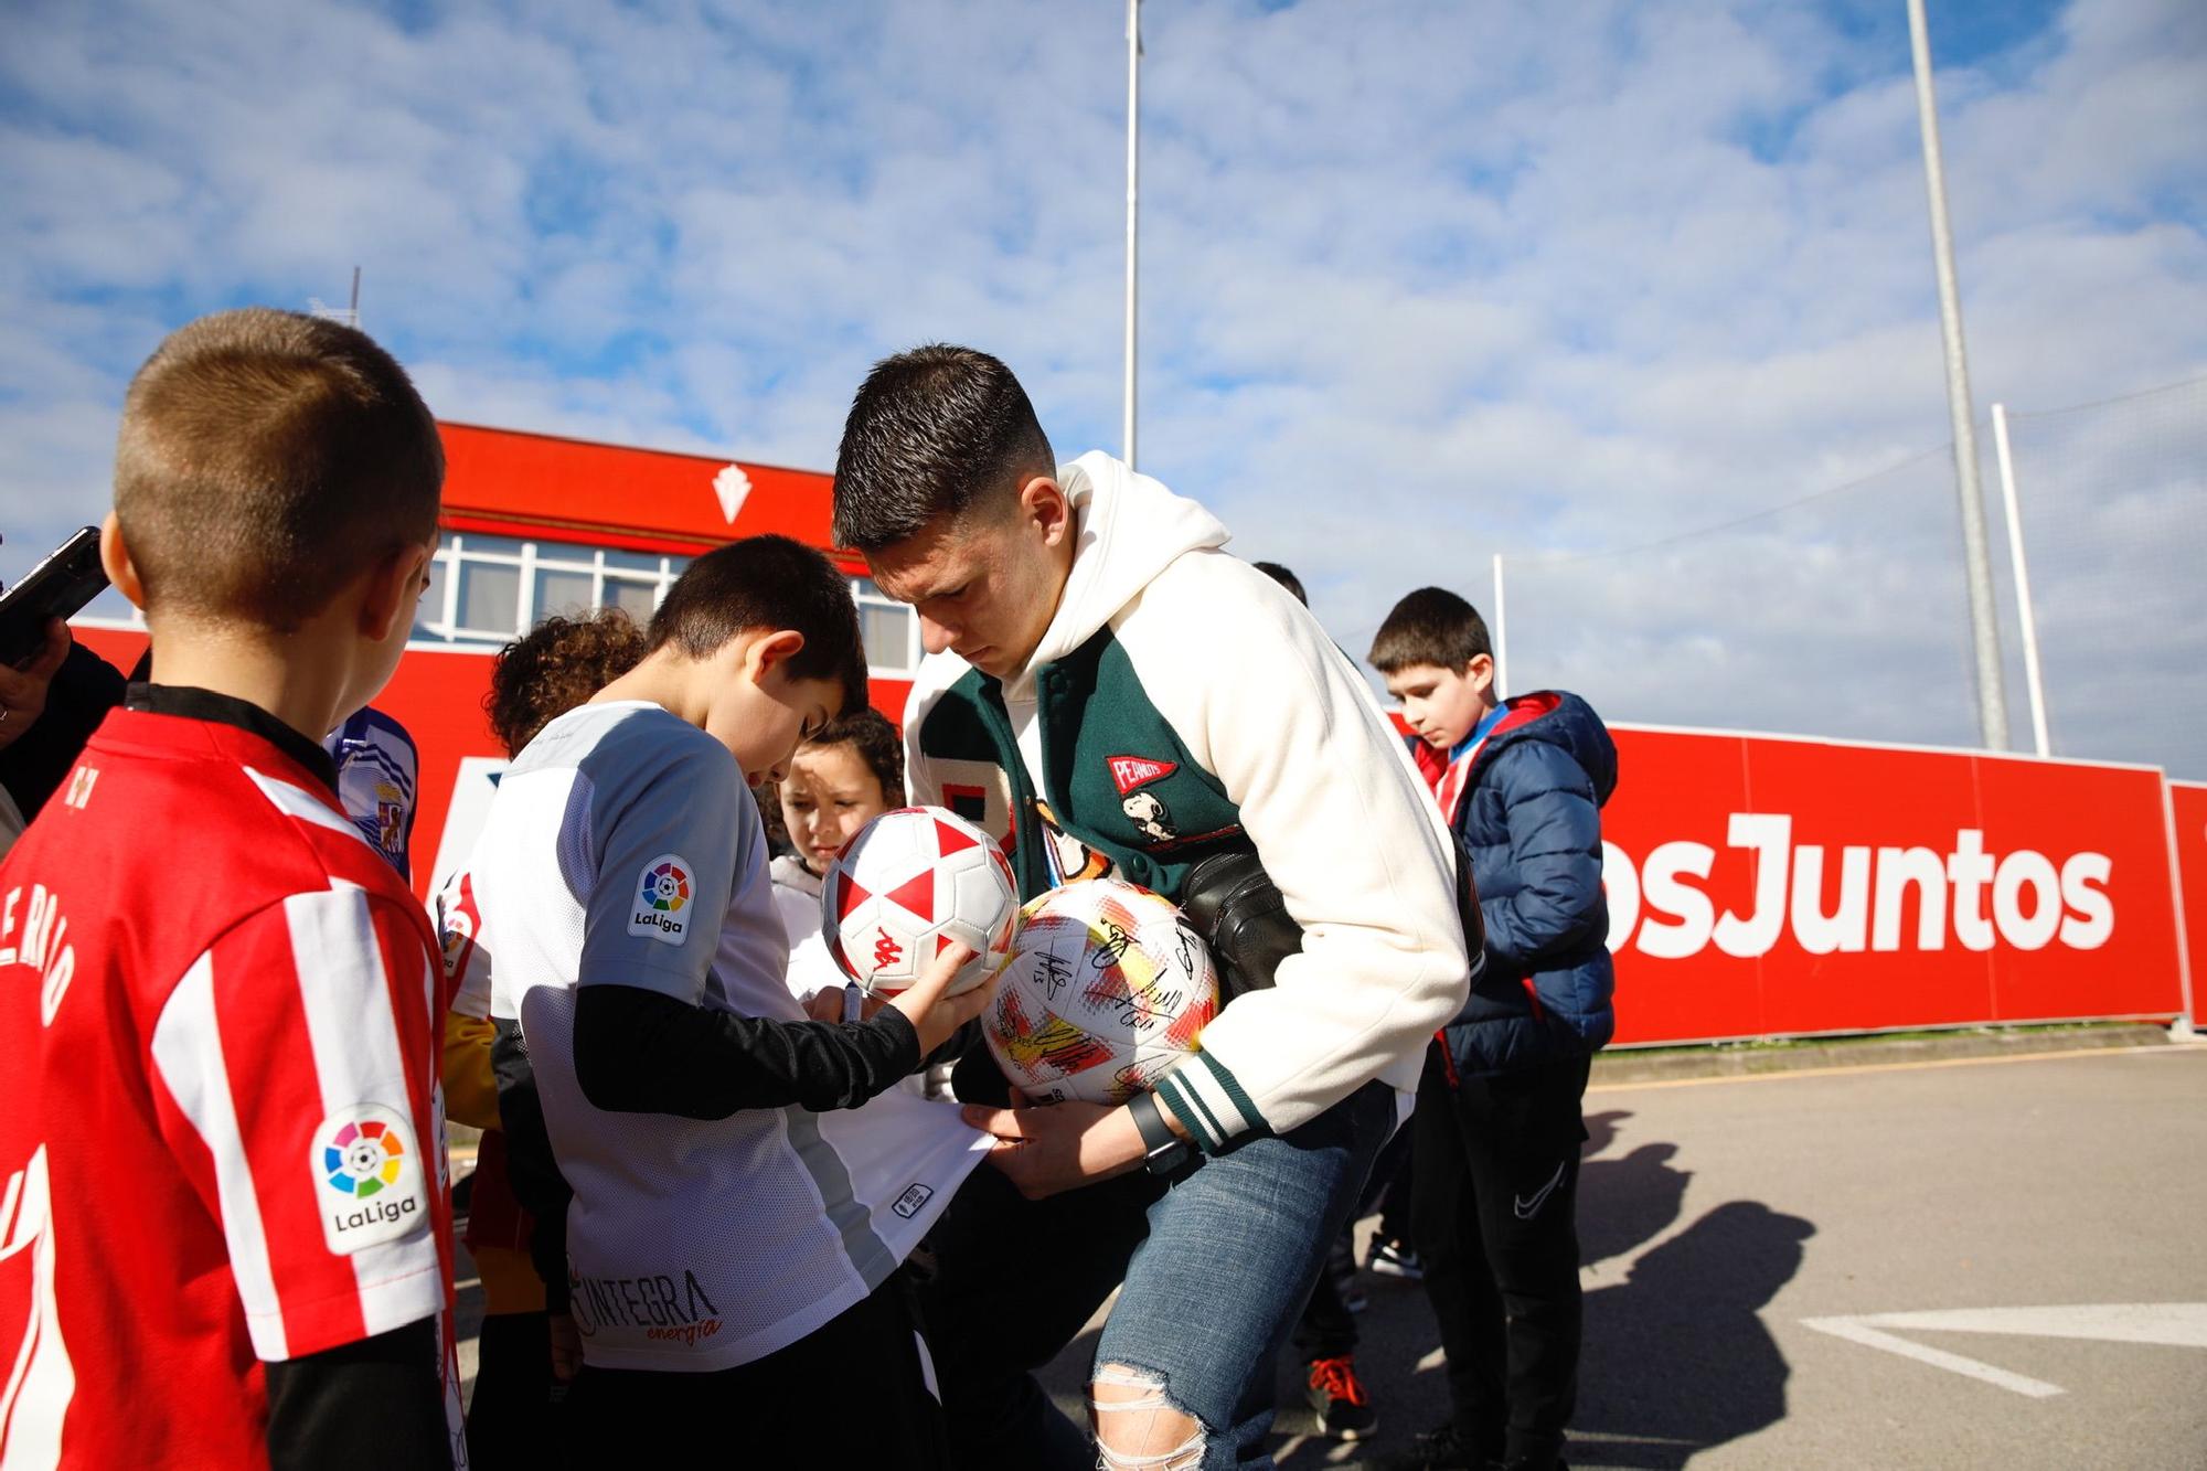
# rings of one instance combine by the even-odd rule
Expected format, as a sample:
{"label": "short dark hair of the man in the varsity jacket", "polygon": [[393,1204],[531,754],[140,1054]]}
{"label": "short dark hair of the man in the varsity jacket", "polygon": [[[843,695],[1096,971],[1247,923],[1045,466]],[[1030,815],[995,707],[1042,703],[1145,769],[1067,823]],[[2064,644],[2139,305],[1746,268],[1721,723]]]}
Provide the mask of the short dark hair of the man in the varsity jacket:
{"label": "short dark hair of the man in the varsity jacket", "polygon": [[1057,459],[1011,369],[931,342],[874,364],[834,457],[834,541],[878,552],[940,515],[1009,506]]}

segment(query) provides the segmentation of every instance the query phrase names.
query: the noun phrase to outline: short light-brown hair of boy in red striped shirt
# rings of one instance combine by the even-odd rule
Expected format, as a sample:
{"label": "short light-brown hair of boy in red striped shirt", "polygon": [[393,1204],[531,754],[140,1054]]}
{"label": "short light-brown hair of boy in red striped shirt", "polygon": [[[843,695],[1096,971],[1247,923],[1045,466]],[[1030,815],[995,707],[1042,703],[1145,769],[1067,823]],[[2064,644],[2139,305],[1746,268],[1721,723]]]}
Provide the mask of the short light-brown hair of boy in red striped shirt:
{"label": "short light-brown hair of boy in red striped shirt", "polygon": [[115,515],[154,610],[294,632],[437,532],[444,444],[364,331],[247,307],[179,327],[124,395]]}

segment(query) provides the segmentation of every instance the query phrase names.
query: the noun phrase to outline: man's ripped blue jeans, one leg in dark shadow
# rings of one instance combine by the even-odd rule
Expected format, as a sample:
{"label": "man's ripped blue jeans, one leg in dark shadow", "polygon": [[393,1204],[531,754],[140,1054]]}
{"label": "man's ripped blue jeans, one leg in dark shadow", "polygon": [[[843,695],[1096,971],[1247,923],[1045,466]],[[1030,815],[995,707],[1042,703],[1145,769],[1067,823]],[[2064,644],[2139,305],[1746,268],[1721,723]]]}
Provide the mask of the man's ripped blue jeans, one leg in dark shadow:
{"label": "man's ripped blue jeans, one leg in dark shadow", "polygon": [[[995,1171],[975,1171],[934,1232],[942,1274],[925,1292],[958,1464],[1095,1464],[1031,1369],[1123,1274],[1095,1363],[1132,1369],[1154,1387],[1152,1405],[1198,1425],[1183,1453],[1148,1464],[1269,1467],[1273,1352],[1393,1129],[1395,1091],[1368,1082],[1287,1135],[1203,1160],[1165,1190],[1137,1173],[1028,1202]],[[1106,1438],[1123,1414],[1139,1411],[1104,1411]]]}

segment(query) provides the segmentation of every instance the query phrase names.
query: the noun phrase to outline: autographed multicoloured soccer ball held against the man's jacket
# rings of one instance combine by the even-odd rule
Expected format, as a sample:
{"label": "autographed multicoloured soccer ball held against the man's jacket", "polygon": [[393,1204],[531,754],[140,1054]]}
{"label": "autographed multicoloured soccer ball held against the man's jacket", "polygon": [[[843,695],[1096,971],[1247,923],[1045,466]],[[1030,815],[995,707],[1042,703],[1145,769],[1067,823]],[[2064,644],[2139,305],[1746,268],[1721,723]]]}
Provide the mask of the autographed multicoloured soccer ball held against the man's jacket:
{"label": "autographed multicoloured soccer ball held against the man's jacket", "polygon": [[1218,1012],[1209,948],[1170,901],[1119,879],[1020,910],[982,1036],[1035,1102],[1123,1104],[1196,1051]]}

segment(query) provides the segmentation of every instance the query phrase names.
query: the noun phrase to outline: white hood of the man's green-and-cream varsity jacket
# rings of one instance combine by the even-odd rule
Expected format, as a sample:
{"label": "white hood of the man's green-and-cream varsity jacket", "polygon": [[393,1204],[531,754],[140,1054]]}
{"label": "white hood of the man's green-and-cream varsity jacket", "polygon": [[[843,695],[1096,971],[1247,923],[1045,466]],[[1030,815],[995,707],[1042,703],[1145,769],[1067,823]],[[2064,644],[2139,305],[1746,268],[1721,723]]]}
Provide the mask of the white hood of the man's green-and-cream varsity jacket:
{"label": "white hood of the man's green-and-cream varsity jacket", "polygon": [[1088,643],[1179,557],[1220,548],[1234,535],[1203,506],[1104,451],[1057,466],[1057,484],[1073,501],[1073,572],[1042,643],[1006,680],[1006,700],[1033,698],[1035,669]]}

